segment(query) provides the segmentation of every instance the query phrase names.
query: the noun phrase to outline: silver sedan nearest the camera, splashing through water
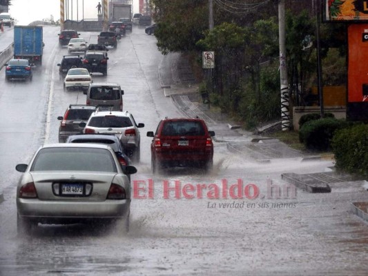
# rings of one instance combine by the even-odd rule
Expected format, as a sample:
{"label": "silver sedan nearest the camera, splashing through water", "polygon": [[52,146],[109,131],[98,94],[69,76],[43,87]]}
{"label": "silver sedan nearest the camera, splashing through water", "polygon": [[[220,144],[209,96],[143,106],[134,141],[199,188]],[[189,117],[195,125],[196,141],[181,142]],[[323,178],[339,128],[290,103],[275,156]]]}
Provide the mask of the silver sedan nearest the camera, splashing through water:
{"label": "silver sedan nearest the camera, splashing through water", "polygon": [[129,228],[133,166],[123,170],[110,146],[48,144],[41,146],[17,185],[17,231],[32,234],[41,224],[95,224],[124,220]]}

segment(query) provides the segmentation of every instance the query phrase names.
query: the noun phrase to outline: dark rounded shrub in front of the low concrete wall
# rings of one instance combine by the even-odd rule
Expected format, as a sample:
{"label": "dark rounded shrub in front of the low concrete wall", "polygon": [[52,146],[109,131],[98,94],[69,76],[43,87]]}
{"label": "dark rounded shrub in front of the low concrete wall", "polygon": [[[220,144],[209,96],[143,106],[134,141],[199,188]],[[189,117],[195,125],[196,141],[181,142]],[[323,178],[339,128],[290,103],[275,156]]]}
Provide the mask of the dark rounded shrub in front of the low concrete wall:
{"label": "dark rounded shrub in front of the low concrete wall", "polygon": [[330,150],[335,130],[347,126],[346,121],[323,118],[307,121],[299,131],[299,140],[310,150]]}

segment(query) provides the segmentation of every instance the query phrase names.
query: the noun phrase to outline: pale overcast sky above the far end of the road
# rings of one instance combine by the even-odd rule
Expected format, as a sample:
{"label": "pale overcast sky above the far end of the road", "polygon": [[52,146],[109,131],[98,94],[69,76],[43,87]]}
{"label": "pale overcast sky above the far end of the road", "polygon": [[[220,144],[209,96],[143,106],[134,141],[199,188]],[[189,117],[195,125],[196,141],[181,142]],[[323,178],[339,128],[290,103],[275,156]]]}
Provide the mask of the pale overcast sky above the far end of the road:
{"label": "pale overcast sky above the far end of the road", "polygon": [[[73,6],[73,20],[81,20],[83,17],[85,19],[97,19],[96,6],[99,1],[102,2],[102,0],[65,0],[65,3],[67,1],[69,6],[71,6],[71,3]],[[12,0],[11,3],[12,6],[9,7],[9,12],[17,20],[18,25],[28,25],[32,21],[50,19],[51,14],[55,21],[60,19],[59,0]],[[137,10],[138,0],[133,0],[133,12],[138,12]],[[69,19],[71,19],[71,15],[69,15]]]}

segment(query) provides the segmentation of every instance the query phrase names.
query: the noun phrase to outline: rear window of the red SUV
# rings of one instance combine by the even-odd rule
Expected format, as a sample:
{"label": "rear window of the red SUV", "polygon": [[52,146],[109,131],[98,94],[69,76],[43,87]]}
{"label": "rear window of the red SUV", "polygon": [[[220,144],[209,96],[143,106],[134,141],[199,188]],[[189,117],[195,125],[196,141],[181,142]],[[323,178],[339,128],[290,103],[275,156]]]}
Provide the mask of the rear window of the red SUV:
{"label": "rear window of the red SUV", "polygon": [[166,121],[162,127],[162,135],[204,135],[204,128],[200,121]]}

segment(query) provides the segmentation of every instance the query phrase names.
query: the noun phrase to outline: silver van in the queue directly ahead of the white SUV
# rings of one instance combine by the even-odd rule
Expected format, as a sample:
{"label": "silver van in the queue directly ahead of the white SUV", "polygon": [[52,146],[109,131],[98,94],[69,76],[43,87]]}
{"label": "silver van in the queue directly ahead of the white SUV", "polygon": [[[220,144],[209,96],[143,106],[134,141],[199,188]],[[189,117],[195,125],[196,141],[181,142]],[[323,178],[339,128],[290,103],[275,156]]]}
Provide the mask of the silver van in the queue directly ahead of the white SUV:
{"label": "silver van in the queue directly ahead of the white SUV", "polygon": [[87,95],[87,106],[97,106],[99,110],[123,110],[124,90],[119,83],[90,83],[84,94]]}

